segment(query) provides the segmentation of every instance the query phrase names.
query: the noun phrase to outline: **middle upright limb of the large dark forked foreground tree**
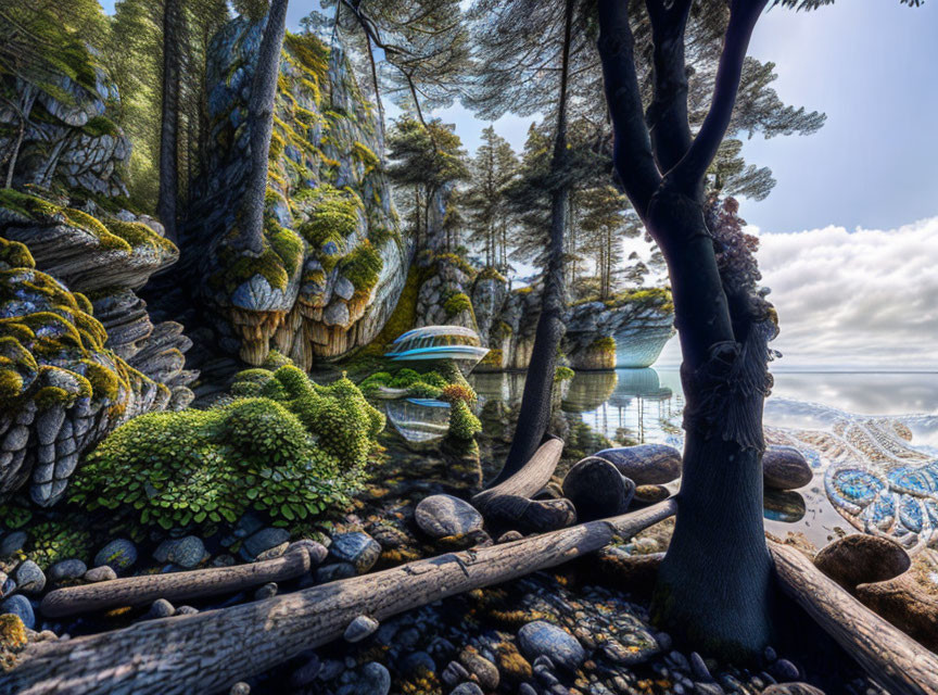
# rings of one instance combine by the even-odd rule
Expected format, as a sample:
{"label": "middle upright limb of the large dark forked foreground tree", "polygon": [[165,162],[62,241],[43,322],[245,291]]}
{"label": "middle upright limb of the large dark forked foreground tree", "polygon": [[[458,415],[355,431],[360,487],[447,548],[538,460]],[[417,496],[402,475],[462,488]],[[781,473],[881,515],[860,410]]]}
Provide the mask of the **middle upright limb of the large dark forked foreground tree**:
{"label": "middle upright limb of the large dark forked foreground tree", "polygon": [[652,81],[655,94],[645,113],[658,167],[668,172],[690,148],[690,124],[687,118],[687,68],[684,59],[684,34],[690,0],[645,0],[651,21]]}

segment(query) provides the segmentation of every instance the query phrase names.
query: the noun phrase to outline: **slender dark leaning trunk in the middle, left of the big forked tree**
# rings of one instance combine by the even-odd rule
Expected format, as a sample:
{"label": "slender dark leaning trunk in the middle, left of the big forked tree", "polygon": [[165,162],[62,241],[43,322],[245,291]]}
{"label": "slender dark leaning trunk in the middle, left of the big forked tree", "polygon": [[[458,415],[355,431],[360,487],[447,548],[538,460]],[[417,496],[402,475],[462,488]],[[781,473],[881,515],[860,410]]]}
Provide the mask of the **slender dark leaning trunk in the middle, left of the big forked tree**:
{"label": "slender dark leaning trunk in the middle, left of the big forked tree", "polygon": [[[573,26],[573,0],[567,0],[563,14],[563,56],[560,68],[560,93],[557,100],[557,132],[554,139],[552,173],[561,172],[567,157],[567,86],[570,71],[570,40]],[[565,177],[550,193],[550,241],[541,316],[534,334],[531,362],[524,380],[524,394],[518,413],[515,438],[502,472],[492,482],[497,485],[517,473],[541,445],[550,424],[554,372],[557,351],[567,327],[563,324],[566,279],[563,277],[563,237],[570,187]]]}

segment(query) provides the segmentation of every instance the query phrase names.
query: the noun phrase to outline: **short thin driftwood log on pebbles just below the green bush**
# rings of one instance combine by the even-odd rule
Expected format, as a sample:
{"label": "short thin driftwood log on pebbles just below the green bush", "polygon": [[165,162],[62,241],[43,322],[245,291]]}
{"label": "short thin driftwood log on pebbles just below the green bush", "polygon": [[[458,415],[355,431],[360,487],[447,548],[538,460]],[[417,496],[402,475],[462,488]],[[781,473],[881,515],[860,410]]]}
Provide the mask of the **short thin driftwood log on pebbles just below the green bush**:
{"label": "short thin driftwood log on pebbles just below the green bush", "polygon": [[145,606],[157,598],[170,602],[204,598],[236,593],[267,582],[296,579],[308,572],[310,567],[309,553],[299,547],[281,557],[250,565],[127,577],[56,589],[46,594],[40,610],[49,618],[60,618],[121,606]]}

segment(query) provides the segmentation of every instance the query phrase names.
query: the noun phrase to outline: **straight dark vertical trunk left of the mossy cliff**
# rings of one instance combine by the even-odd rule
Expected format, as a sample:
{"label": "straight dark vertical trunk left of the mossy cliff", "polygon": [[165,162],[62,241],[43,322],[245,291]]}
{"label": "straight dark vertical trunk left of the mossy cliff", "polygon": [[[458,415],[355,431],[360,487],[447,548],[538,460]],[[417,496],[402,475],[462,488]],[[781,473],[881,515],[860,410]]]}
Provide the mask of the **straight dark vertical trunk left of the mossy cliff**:
{"label": "straight dark vertical trunk left of the mossy cliff", "polygon": [[166,238],[176,233],[179,200],[179,41],[181,8],[179,0],[165,0],[163,8],[163,108],[160,123],[160,193],[156,216],[163,223]]}

